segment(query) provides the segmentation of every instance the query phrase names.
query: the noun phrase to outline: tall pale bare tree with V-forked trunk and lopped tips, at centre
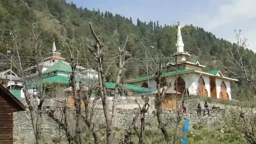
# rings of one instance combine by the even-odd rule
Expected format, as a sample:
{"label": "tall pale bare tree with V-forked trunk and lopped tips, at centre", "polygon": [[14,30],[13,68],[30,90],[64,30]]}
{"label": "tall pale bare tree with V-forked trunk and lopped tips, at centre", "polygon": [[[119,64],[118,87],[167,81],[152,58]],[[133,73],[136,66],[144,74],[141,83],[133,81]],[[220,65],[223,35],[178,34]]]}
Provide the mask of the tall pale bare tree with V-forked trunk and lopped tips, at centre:
{"label": "tall pale bare tree with V-forked trunk and lopped tips, at centre", "polygon": [[113,99],[113,106],[112,106],[112,115],[109,114],[109,107],[108,107],[108,100],[107,100],[107,90],[105,86],[105,75],[107,73],[103,71],[103,61],[104,61],[104,39],[103,42],[101,42],[101,37],[97,36],[96,33],[94,32],[94,29],[92,27],[92,23],[90,22],[90,29],[92,32],[92,35],[95,39],[96,42],[90,41],[90,45],[94,48],[91,49],[90,46],[87,45],[88,49],[91,51],[92,54],[94,54],[95,59],[97,60],[97,72],[98,72],[98,77],[99,77],[99,93],[100,97],[102,100],[102,106],[105,114],[105,119],[106,119],[106,132],[107,132],[107,143],[108,144],[114,144],[114,126],[115,126],[115,120],[116,120],[116,97],[118,96],[118,88],[119,88],[119,83],[120,83],[120,77],[122,74],[123,66],[128,58],[130,58],[130,54],[125,51],[125,46],[126,42],[124,44],[123,48],[119,48],[119,67],[118,67],[118,74],[117,74],[117,79],[116,79],[116,86],[115,86],[115,95]]}

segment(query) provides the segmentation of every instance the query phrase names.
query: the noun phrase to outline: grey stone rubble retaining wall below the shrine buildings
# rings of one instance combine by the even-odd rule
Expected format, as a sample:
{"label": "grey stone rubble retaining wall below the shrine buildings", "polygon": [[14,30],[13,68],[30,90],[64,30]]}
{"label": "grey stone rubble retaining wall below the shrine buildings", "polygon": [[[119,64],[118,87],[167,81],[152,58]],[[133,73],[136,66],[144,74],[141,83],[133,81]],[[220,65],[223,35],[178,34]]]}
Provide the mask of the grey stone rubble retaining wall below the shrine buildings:
{"label": "grey stone rubble retaining wall below the shrine buildings", "polygon": [[[221,106],[222,109],[211,109],[210,116],[206,114],[203,116],[203,109],[201,116],[197,116],[196,106],[198,101],[186,102],[188,107],[188,111],[186,114],[182,114],[182,123],[185,117],[190,119],[190,125],[193,124],[206,124],[208,127],[215,127],[220,125],[229,124],[229,118],[231,117],[230,109],[223,109],[224,105]],[[201,102],[200,103],[204,103]],[[212,106],[212,104],[210,104]],[[203,108],[203,107],[202,107]],[[54,109],[56,111],[56,116],[61,119],[61,111],[62,107],[47,107],[47,109]],[[138,109],[117,109],[116,113],[116,127],[118,128],[126,128],[132,123],[133,117],[138,112]],[[110,111],[111,114],[111,111]],[[75,128],[75,110],[68,110],[68,122],[69,127],[74,131]],[[146,124],[151,123],[154,127],[158,127],[158,123],[156,121],[156,111],[146,113]],[[177,117],[177,110],[163,110],[162,111],[162,119],[165,124],[172,124]],[[33,127],[31,123],[29,110],[22,112],[14,113],[14,136],[19,136],[20,139],[24,140],[25,143],[32,144],[34,143],[35,137],[33,132]],[[96,128],[105,128],[106,121],[102,108],[97,108],[94,114],[94,122]],[[136,121],[136,125],[140,126],[140,115]],[[85,124],[83,124],[84,127]],[[44,119],[42,123],[42,133],[43,136],[50,137],[59,137],[59,135],[63,134],[62,130],[59,130],[59,126],[57,123],[48,117],[47,114],[44,114]]]}

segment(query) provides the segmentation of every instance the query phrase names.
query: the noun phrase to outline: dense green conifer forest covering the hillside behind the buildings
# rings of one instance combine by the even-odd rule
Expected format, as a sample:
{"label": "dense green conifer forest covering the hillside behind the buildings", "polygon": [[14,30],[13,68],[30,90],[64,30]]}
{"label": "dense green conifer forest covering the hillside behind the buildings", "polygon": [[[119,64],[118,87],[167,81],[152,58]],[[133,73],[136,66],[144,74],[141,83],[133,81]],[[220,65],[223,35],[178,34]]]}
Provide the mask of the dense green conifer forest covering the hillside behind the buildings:
{"label": "dense green conifer forest covering the hillside behind the buildings", "polygon": [[[26,37],[29,37],[25,22],[41,22],[39,26],[45,30],[42,37],[50,36],[53,31],[59,30],[63,39],[67,42],[70,42],[71,39],[78,42],[87,42],[86,38],[92,39],[89,22],[93,22],[96,33],[104,39],[107,62],[110,62],[109,60],[118,51],[118,47],[123,46],[126,37],[129,36],[126,49],[132,53],[133,60],[130,60],[126,65],[125,79],[146,74],[143,69],[133,62],[134,60],[145,60],[145,48],[141,41],[147,48],[154,47],[148,49],[154,58],[157,57],[157,54],[158,56],[162,55],[163,50],[168,46],[165,53],[165,62],[171,60],[170,55],[176,51],[176,25],[165,24],[162,26],[159,25],[158,21],[143,22],[139,18],[132,20],[129,16],[125,17],[108,11],[103,12],[99,9],[88,10],[87,8],[77,7],[76,4],[66,3],[65,0],[0,0],[1,53],[6,54],[6,51],[12,47],[9,33],[4,31],[10,29],[18,35],[16,37],[17,42],[24,48],[21,54],[24,57],[32,55],[32,52],[26,46],[26,41],[24,41]],[[216,38],[213,33],[192,24],[185,25],[182,28],[182,33],[184,50],[191,54],[191,60],[198,60],[201,64],[206,65],[206,70],[221,69],[216,61],[217,58],[225,64],[227,48],[235,46],[235,44],[231,44],[223,38]],[[168,40],[170,35],[173,38]],[[54,35],[53,37],[57,50],[61,51],[63,57],[65,57],[65,52],[61,47],[62,37],[60,35]],[[52,40],[53,38],[46,40],[42,49],[45,53],[50,52]],[[83,54],[83,58],[91,57],[86,50]],[[254,56],[253,51],[247,50],[245,57],[247,60],[254,62]],[[1,58],[4,59],[3,56]],[[90,60],[91,66],[93,66],[95,64],[94,59],[91,58]],[[24,61],[27,62],[27,60]],[[6,63],[6,61],[2,62],[2,64]],[[222,72],[232,77],[230,72]],[[248,92],[249,86],[245,81],[240,80],[237,83],[232,83],[234,99],[246,97]]]}

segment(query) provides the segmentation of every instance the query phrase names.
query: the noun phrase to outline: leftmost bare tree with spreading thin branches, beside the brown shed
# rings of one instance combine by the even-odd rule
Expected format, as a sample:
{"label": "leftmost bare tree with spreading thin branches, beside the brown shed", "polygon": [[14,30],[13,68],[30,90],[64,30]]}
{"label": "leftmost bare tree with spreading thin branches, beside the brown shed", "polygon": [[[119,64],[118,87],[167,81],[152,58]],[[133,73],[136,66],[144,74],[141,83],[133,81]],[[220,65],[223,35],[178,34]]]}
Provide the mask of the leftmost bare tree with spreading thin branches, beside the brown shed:
{"label": "leftmost bare tree with spreading thin branches, beside the brown shed", "polygon": [[[25,100],[27,103],[27,107],[30,110],[34,135],[36,137],[36,143],[38,144],[40,143],[40,139],[42,137],[41,123],[44,117],[43,103],[45,101],[45,98],[47,97],[45,95],[46,86],[43,85],[43,74],[41,67],[44,57],[44,52],[42,51],[42,48],[45,47],[46,40],[57,34],[58,32],[44,38],[45,30],[40,22],[29,23],[25,21],[23,24],[26,27],[26,29],[23,31],[28,32],[27,39],[23,39],[23,41],[26,43],[26,48],[31,50],[33,54],[33,57],[31,57],[32,60],[30,59],[29,62],[31,62],[31,64],[35,64],[34,69],[36,69],[37,73],[34,73],[32,75],[36,75],[36,82],[33,81],[33,76],[31,75],[31,73],[26,71],[28,67],[31,67],[31,65],[23,64],[24,59],[22,59],[21,51],[24,49],[20,41],[21,37],[19,36],[19,32],[22,33],[22,30],[3,30],[3,32],[8,32],[11,36],[11,46],[13,48],[10,50],[12,51],[11,53],[13,57],[12,59],[10,59],[10,61],[12,61],[12,66],[16,69],[18,75],[21,77]],[[36,89],[39,102],[34,103],[30,101],[30,96],[28,93],[29,85],[32,85],[34,89]]]}

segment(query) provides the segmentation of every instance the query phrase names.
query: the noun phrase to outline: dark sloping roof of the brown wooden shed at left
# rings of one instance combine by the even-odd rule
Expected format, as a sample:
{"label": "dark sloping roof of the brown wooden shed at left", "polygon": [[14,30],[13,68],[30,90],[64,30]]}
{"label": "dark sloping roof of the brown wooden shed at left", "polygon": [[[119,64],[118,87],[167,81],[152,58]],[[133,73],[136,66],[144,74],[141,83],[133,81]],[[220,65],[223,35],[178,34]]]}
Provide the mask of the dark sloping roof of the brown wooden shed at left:
{"label": "dark sloping roof of the brown wooden shed at left", "polygon": [[16,111],[25,111],[26,107],[9,90],[0,84],[0,96]]}

